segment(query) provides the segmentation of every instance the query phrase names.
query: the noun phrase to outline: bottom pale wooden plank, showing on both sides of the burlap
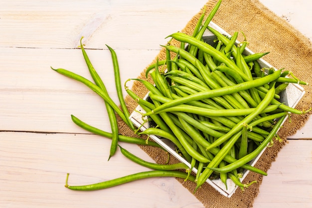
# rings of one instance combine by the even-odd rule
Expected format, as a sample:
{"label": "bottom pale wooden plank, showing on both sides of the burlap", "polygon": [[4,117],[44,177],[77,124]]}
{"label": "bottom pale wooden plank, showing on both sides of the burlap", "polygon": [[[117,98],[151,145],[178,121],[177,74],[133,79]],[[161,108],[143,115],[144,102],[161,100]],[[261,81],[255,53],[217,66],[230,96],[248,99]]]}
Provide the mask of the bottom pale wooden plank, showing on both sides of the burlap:
{"label": "bottom pale wooden plank, showing on both sides of the burlap", "polygon": [[[118,152],[107,162],[110,140],[84,134],[0,133],[0,207],[189,207],[200,202],[174,179],[147,179],[96,192],[65,189],[146,171]],[[290,140],[264,177],[254,208],[309,207],[312,203],[311,140]],[[122,144],[152,160],[136,145]],[[289,157],[289,156],[292,157]],[[92,163],[90,163],[92,161]],[[299,163],[300,161],[300,163]],[[144,187],[144,188],[143,188]]]}

